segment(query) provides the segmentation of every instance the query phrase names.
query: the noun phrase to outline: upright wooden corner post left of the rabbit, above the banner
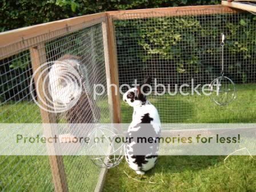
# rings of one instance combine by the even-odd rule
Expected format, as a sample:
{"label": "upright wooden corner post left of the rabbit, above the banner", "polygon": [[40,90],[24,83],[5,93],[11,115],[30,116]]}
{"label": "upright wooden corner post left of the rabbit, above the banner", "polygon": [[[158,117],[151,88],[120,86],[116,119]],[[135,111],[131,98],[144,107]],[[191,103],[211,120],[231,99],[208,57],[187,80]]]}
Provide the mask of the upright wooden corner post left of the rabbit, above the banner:
{"label": "upright wooden corner post left of the rabbit, above the banner", "polygon": [[119,94],[117,48],[115,46],[115,30],[112,16],[107,14],[106,22],[102,22],[103,43],[105,51],[107,86],[109,90],[109,104],[113,123],[121,123],[121,104]]}

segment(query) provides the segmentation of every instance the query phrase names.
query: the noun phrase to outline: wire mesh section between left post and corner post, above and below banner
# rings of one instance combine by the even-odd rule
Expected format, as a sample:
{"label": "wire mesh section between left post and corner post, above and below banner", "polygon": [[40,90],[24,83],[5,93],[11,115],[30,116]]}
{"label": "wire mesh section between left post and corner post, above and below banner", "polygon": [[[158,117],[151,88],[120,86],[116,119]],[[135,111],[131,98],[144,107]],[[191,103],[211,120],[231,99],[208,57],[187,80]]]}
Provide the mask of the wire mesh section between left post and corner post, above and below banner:
{"label": "wire mesh section between left post and corner post, above and below banner", "polygon": [[[69,55],[68,58],[73,55],[78,59],[79,74],[85,88],[78,102],[65,113],[58,115],[59,122],[72,123],[70,130],[64,130],[63,134],[85,137],[89,130],[85,130],[82,123],[110,123],[107,94],[93,99],[94,84],[106,87],[102,37],[102,25],[97,24],[46,43],[47,61],[56,61],[63,55]],[[63,89],[60,89],[60,95],[62,98],[66,97]],[[101,169],[90,161],[90,157],[66,156],[63,161],[69,191],[94,190]]]}

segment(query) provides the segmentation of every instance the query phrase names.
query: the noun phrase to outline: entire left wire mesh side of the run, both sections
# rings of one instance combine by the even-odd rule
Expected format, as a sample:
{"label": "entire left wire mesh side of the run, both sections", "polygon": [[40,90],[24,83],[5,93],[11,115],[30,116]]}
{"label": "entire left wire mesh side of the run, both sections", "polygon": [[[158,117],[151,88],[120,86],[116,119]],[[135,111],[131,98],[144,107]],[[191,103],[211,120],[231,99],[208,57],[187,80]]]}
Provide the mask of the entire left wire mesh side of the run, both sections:
{"label": "entire left wire mesh side of the run, both sections", "polygon": [[[86,130],[75,123],[110,123],[107,94],[95,100],[92,97],[94,84],[100,83],[106,87],[103,47],[103,41],[106,40],[103,39],[102,24],[88,26],[87,23],[81,23],[72,29],[67,27],[26,39],[16,45],[1,47],[1,51],[10,50],[0,60],[1,123],[42,123],[39,107],[33,102],[29,90],[33,74],[29,48],[38,45],[43,45],[38,46],[41,62],[54,63],[65,54],[73,55],[81,62],[78,72],[86,91],[82,92],[77,105],[66,113],[55,115],[58,123],[73,123],[69,129],[60,130],[61,133],[87,134]],[[45,38],[50,40],[44,41]],[[30,47],[19,50],[19,43]],[[14,52],[11,52],[10,47],[15,47]],[[34,86],[32,92],[36,95]],[[62,162],[59,163],[61,165]],[[95,189],[101,169],[90,161],[89,156],[65,156],[63,165],[69,191]],[[0,191],[54,191],[53,180],[47,156],[0,156]]]}

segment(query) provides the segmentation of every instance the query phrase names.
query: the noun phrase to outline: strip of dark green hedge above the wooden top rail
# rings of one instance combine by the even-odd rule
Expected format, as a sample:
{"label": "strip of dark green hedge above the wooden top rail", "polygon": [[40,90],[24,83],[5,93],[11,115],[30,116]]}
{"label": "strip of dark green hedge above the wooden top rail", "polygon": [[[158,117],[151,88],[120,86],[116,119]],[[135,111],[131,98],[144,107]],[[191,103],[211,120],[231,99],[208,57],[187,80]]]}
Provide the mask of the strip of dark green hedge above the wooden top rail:
{"label": "strip of dark green hedge above the wooden top rail", "polygon": [[2,0],[0,2],[0,31],[109,10],[214,5],[219,2],[219,0]]}

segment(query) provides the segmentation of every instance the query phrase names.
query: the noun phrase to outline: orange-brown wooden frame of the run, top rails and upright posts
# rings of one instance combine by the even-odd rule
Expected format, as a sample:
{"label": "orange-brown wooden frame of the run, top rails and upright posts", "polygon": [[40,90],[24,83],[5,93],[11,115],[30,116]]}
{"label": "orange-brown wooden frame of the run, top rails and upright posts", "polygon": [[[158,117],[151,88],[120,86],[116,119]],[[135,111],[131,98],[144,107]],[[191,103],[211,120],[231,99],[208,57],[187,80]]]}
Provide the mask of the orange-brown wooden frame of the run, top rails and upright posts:
{"label": "orange-brown wooden frame of the run, top rails and upright posts", "polygon": [[[225,2],[226,3],[226,2]],[[223,2],[223,4],[225,4]],[[233,2],[232,2],[233,3]],[[228,3],[226,5],[233,5]],[[234,6],[233,6],[234,7]],[[236,7],[239,8],[239,7]],[[158,9],[109,11],[81,17],[63,19],[41,25],[24,27],[22,29],[11,30],[0,33],[0,59],[5,59],[11,55],[21,53],[23,50],[30,50],[33,70],[37,70],[43,62],[46,61],[45,42],[61,37],[67,33],[72,33],[85,27],[102,23],[103,42],[105,51],[106,75],[111,84],[118,86],[118,65],[117,50],[115,47],[115,34],[113,20],[115,19],[134,19],[170,15],[187,14],[220,14],[220,13],[238,13],[241,10],[233,9],[227,6],[187,6],[187,7],[169,7]],[[252,11],[252,10],[251,10]],[[37,79],[35,79],[36,81]],[[40,85],[40,83],[39,83]],[[41,87],[42,89],[42,87]],[[40,91],[40,90],[37,90]],[[111,108],[111,118],[113,123],[121,123],[121,107],[119,94],[114,93],[114,87],[110,90],[111,98],[109,105]],[[41,110],[43,123],[55,123],[54,115]],[[67,191],[67,179],[65,167],[60,156],[50,157],[51,170],[53,173],[53,182],[55,191]],[[106,169],[101,171],[95,191],[101,191],[103,181],[106,175]]]}

